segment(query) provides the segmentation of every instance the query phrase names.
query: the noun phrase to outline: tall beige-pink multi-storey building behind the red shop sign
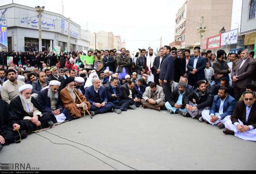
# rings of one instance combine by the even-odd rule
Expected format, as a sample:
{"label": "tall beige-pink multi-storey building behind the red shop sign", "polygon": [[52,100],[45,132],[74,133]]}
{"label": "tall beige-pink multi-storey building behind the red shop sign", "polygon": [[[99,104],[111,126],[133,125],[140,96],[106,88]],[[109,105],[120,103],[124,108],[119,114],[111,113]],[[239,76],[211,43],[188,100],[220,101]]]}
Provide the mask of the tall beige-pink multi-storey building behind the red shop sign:
{"label": "tall beige-pink multi-storey building behind the red shop sign", "polygon": [[233,0],[187,0],[176,14],[175,40],[170,46],[178,49],[200,46],[201,38],[197,28],[201,26],[202,16],[203,26],[207,27],[203,40],[218,34],[223,27],[230,31],[232,5]]}

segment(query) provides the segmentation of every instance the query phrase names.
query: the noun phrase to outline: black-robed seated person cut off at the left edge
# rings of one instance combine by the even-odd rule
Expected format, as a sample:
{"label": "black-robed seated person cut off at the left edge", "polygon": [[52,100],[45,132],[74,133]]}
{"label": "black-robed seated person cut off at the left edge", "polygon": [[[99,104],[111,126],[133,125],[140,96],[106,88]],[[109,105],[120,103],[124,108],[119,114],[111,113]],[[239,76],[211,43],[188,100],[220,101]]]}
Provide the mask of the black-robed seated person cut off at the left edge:
{"label": "black-robed seated person cut off at the left edge", "polygon": [[[13,113],[8,103],[0,99],[0,150],[10,143],[20,143],[28,134],[20,129],[19,118]],[[19,133],[21,137],[19,136]]]}

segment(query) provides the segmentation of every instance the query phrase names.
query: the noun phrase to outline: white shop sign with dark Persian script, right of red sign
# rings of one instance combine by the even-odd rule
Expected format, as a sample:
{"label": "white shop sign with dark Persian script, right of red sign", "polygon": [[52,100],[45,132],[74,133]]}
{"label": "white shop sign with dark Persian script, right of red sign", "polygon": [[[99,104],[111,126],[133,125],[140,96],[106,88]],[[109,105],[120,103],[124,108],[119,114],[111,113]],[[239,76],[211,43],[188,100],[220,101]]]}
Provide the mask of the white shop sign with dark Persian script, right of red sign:
{"label": "white shop sign with dark Persian script, right of red sign", "polygon": [[221,46],[237,44],[238,29],[221,34]]}

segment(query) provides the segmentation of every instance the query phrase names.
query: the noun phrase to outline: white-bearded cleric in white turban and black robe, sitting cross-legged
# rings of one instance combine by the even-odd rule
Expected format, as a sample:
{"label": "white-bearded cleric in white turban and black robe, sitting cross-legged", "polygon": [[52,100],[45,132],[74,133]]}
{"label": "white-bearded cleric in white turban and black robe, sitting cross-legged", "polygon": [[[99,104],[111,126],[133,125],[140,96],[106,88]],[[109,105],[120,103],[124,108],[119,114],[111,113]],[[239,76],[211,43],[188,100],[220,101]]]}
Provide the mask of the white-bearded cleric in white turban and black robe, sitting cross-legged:
{"label": "white-bearded cleric in white turban and black robe, sitting cross-legged", "polygon": [[[31,96],[32,85],[26,84],[19,87],[19,96],[12,99],[10,106],[19,118],[21,129],[33,132],[53,125],[49,113],[43,113],[36,99]],[[51,120],[52,119],[52,120]]]}

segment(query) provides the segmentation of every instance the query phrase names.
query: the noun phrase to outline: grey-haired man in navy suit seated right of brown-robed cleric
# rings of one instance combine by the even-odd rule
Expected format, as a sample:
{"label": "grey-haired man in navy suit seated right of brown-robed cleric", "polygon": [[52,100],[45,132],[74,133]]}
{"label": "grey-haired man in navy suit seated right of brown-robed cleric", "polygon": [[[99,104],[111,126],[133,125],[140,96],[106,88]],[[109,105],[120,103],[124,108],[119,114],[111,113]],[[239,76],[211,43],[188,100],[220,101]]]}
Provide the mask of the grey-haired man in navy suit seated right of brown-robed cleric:
{"label": "grey-haired man in navy suit seated right of brown-robed cleric", "polygon": [[105,87],[100,86],[99,78],[92,79],[92,86],[86,88],[85,97],[91,104],[93,115],[112,111],[113,104],[107,102],[107,92]]}

